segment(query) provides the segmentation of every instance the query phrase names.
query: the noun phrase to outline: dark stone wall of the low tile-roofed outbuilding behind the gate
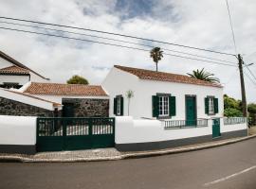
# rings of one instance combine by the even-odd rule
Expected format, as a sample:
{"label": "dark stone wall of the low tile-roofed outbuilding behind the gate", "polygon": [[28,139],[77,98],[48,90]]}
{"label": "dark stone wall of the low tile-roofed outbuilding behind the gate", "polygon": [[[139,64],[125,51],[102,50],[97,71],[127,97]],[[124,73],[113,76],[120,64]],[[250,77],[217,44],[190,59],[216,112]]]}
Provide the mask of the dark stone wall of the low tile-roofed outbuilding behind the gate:
{"label": "dark stone wall of the low tile-roofed outbuilding behind the gate", "polygon": [[63,104],[70,103],[75,117],[108,117],[109,99],[63,98]]}

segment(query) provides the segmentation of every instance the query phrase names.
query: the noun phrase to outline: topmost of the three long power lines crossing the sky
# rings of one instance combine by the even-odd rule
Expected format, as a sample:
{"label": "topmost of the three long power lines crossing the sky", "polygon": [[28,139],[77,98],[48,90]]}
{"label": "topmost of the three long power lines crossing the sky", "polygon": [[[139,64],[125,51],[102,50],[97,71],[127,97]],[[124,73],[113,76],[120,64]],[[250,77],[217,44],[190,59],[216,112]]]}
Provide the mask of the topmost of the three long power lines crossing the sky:
{"label": "topmost of the three long power lines crossing the sky", "polygon": [[20,22],[33,23],[33,24],[47,25],[47,26],[59,26],[59,27],[66,27],[66,28],[72,28],[72,29],[81,29],[81,30],[86,30],[86,31],[104,33],[104,34],[121,36],[121,37],[126,37],[126,38],[137,39],[137,40],[143,40],[143,41],[148,41],[148,42],[153,42],[153,43],[170,44],[170,45],[175,45],[175,46],[180,46],[180,47],[185,47],[185,48],[191,48],[191,49],[195,49],[195,50],[207,51],[207,52],[210,52],[210,53],[217,53],[217,54],[222,54],[222,55],[235,56],[235,55],[230,54],[230,53],[214,51],[214,50],[210,50],[210,49],[206,49],[206,48],[199,48],[199,47],[194,47],[194,46],[189,46],[189,45],[184,45],[184,44],[178,44],[178,43],[167,43],[167,42],[157,41],[157,40],[153,40],[153,39],[141,38],[141,37],[136,37],[136,36],[131,36],[131,35],[124,35],[124,34],[119,34],[119,33],[114,33],[114,32],[101,31],[101,30],[97,30],[97,29],[89,29],[89,28],[78,27],[78,26],[57,25],[57,24],[52,24],[52,23],[31,21],[31,20],[18,19],[18,18],[10,18],[10,17],[5,17],[5,16],[0,16],[0,18],[7,19],[7,20],[20,21]]}

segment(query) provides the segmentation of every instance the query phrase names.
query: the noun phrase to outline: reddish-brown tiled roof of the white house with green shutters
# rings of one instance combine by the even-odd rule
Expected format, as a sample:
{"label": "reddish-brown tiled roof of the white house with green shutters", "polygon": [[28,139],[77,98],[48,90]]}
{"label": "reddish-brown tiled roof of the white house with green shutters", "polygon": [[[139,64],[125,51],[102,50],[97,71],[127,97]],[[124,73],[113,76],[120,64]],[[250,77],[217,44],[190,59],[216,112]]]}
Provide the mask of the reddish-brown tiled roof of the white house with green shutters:
{"label": "reddish-brown tiled roof of the white house with green shutters", "polygon": [[220,88],[222,87],[218,83],[211,83],[208,81],[199,80],[199,79],[184,76],[184,75],[177,75],[177,74],[171,74],[171,73],[165,73],[165,72],[155,72],[151,70],[131,68],[131,67],[125,67],[120,65],[115,65],[114,67],[124,72],[133,74],[141,79],[188,83],[188,84],[194,84],[194,85],[204,85],[204,86],[220,87]]}

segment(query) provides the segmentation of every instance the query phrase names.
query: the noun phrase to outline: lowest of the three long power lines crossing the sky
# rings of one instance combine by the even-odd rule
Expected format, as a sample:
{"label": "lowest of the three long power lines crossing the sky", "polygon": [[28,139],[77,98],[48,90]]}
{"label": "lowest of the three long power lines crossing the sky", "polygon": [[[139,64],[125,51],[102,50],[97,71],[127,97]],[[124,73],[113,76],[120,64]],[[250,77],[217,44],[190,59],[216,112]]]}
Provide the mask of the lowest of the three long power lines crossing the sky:
{"label": "lowest of the three long power lines crossing the sky", "polygon": [[[147,50],[147,49],[125,46],[125,45],[120,45],[120,44],[115,44],[115,43],[96,42],[96,41],[93,41],[93,40],[85,40],[85,39],[80,39],[80,38],[66,37],[66,36],[60,36],[60,35],[55,35],[55,34],[47,34],[47,33],[42,33],[42,32],[27,31],[27,30],[23,30],[23,29],[14,29],[14,28],[1,27],[1,26],[0,26],[0,28],[1,29],[6,29],[6,30],[12,30],[12,31],[25,32],[25,33],[30,33],[30,34],[38,34],[38,35],[44,35],[44,36],[64,38],[64,39],[69,39],[69,40],[82,41],[82,42],[101,43],[101,44],[106,44],[106,45],[112,45],[112,46],[118,46],[118,47],[122,47],[122,48],[135,49],[135,50],[141,50],[141,51],[149,52],[149,50]],[[174,54],[170,54],[170,53],[163,53],[163,54],[173,56],[173,57],[177,57],[177,58],[182,58],[182,59],[199,60],[199,61],[215,63],[215,64],[219,64],[219,65],[227,65],[227,66],[236,67],[236,65],[234,65],[234,64],[228,64],[228,63],[222,63],[222,62],[210,61],[210,60],[200,60],[200,59],[195,59],[195,58],[190,58],[190,57],[183,57],[183,56],[179,56],[179,55],[174,55]]]}

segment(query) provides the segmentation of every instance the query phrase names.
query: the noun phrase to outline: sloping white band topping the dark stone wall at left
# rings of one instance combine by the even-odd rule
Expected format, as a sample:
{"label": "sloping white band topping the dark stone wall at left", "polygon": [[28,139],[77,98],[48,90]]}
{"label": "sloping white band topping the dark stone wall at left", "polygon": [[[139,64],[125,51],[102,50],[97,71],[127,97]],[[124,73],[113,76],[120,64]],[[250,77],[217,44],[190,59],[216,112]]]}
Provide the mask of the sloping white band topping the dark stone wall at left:
{"label": "sloping white band topping the dark stone wall at left", "polygon": [[1,89],[1,88],[0,88],[0,96],[4,97],[4,98],[8,98],[10,100],[22,102],[22,103],[25,103],[25,104],[28,104],[28,105],[31,105],[31,106],[46,109],[46,110],[49,110],[49,111],[54,110],[53,104],[50,103],[50,102],[35,99],[33,97],[29,97],[29,96],[22,95],[22,94],[15,94],[15,93],[9,92],[8,90]]}

